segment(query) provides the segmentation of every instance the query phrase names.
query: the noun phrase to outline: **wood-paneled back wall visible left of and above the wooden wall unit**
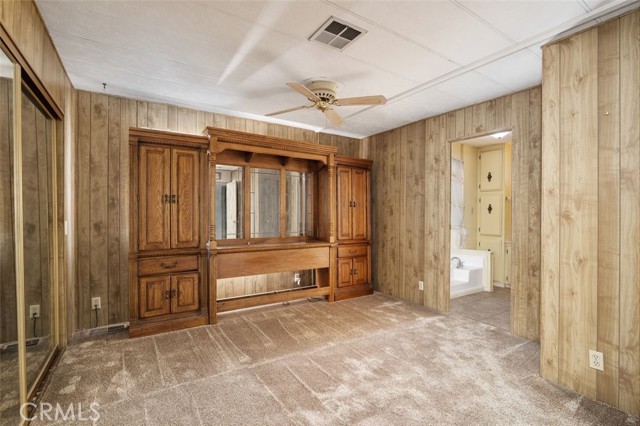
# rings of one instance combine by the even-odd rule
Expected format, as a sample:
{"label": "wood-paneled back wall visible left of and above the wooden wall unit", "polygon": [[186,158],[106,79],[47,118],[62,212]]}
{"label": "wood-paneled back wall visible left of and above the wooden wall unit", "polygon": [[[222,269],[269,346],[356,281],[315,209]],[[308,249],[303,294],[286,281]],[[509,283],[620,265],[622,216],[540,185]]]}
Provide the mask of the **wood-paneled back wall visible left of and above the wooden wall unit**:
{"label": "wood-paneled back wall visible left of and above the wooden wall unit", "polygon": [[357,155],[358,139],[99,93],[77,96],[77,325],[128,320],[129,127],[200,134],[206,126],[322,143]]}

